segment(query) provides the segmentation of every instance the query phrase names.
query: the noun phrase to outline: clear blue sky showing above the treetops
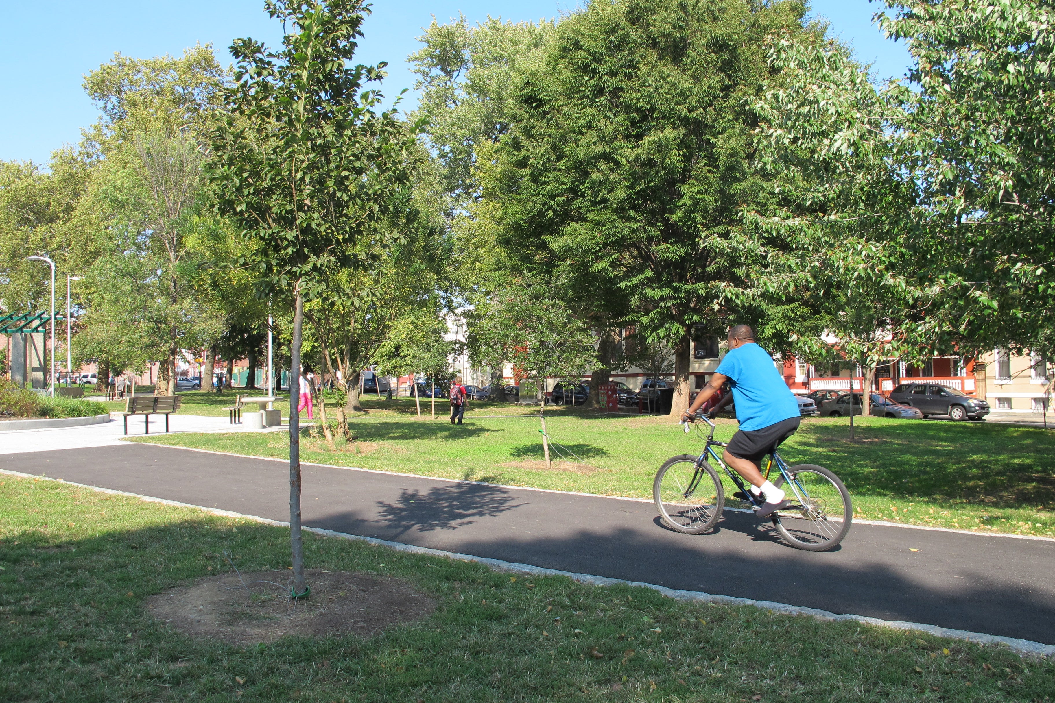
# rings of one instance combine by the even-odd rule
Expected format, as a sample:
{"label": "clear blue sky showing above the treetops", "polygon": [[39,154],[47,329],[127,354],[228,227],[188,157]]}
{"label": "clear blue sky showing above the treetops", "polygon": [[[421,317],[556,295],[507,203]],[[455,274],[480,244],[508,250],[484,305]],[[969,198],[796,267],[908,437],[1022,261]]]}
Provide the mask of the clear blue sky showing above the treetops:
{"label": "clear blue sky showing above the treetops", "polygon": [[[263,12],[263,0],[55,0],[37,4],[0,0],[5,18],[0,40],[0,159],[46,162],[63,143],[77,142],[81,128],[98,112],[84,95],[82,76],[127,56],[178,55],[195,43],[212,43],[223,63],[235,37],[277,43],[281,27]],[[578,0],[376,0],[364,24],[358,58],[388,61],[386,95],[414,87],[405,62],[416,38],[435,15],[445,21],[459,12],[472,22],[490,14],[510,20],[560,16]],[[908,66],[902,44],[887,41],[872,23],[882,7],[866,0],[814,0],[813,13],[831,21],[831,32],[852,44],[858,57],[874,63],[879,78],[900,77]],[[406,106],[416,102],[407,95]]]}

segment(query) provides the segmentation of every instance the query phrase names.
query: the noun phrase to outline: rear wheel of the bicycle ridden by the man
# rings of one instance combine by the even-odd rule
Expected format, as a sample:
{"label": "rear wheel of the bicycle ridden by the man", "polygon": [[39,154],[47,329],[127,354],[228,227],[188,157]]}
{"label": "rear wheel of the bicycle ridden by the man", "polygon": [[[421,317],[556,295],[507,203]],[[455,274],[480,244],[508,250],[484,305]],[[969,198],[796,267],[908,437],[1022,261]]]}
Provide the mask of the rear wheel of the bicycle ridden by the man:
{"label": "rear wheel of the bicycle ridden by the man", "polygon": [[[788,511],[781,510],[773,514],[773,526],[781,533],[788,544],[795,549],[806,551],[827,551],[835,549],[843,541],[853,522],[853,505],[850,502],[849,491],[846,486],[832,471],[816,464],[798,464],[790,469],[792,476],[797,476],[800,484],[810,493],[810,501],[814,507],[820,504],[822,510]],[[803,481],[803,474],[806,480]],[[810,479],[809,476],[814,476]],[[776,477],[773,485],[781,488],[784,485],[784,474]],[[813,490],[810,490],[810,489]],[[836,512],[835,499],[842,502],[842,514],[835,520],[829,520],[825,505],[830,505],[831,512]],[[795,491],[788,490],[787,497],[792,503],[799,502]],[[802,505],[802,504],[800,504]],[[818,519],[820,518],[820,519]],[[785,524],[786,521],[786,524]],[[838,522],[837,522],[838,521]]]}

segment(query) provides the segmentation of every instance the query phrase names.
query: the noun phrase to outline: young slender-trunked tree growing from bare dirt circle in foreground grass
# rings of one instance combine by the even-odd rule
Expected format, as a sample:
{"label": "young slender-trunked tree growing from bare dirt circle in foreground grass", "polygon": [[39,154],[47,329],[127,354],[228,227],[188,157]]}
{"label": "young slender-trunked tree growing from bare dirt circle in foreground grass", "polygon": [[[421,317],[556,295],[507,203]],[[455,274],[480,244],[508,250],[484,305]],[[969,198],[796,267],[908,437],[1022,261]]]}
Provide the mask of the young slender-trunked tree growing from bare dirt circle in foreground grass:
{"label": "young slender-trunked tree growing from bare dirt circle in foreground grass", "polygon": [[290,541],[292,594],[308,592],[301,541],[296,411],[305,298],[341,271],[369,262],[357,242],[377,234],[407,179],[413,136],[364,83],[384,65],[350,65],[367,7],[360,0],[268,0],[283,45],[236,39],[229,118],[217,129],[215,195],[252,242],[264,287],[293,308],[290,347]]}

